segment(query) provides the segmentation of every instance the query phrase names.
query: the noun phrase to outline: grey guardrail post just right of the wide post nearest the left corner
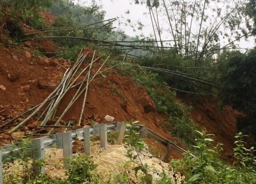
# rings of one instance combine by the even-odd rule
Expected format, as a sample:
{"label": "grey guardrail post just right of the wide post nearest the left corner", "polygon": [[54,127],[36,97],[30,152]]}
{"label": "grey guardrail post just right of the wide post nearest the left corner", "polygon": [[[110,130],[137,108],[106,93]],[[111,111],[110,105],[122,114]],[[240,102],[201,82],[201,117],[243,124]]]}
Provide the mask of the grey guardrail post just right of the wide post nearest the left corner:
{"label": "grey guardrail post just right of the wide post nearest the left corner", "polygon": [[72,158],[72,134],[71,132],[63,133],[63,168],[70,167]]}

